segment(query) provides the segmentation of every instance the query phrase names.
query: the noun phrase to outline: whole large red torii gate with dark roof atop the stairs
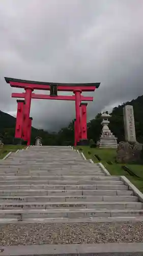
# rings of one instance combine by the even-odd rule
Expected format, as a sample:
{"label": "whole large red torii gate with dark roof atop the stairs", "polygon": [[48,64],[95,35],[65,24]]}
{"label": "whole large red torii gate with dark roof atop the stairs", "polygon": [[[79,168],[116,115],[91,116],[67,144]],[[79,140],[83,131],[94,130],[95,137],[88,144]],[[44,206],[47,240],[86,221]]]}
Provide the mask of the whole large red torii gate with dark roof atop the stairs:
{"label": "whole large red torii gate with dark roof atop the stairs", "polygon": [[[7,83],[10,83],[11,87],[24,88],[25,93],[12,93],[12,97],[20,97],[25,100],[18,100],[17,106],[17,122],[16,122],[16,134],[15,137],[21,136],[24,140],[27,140],[27,144],[30,144],[31,136],[31,123],[32,118],[30,118],[30,108],[31,108],[31,99],[60,99],[60,100],[75,100],[75,110],[76,110],[76,122],[75,122],[75,144],[83,143],[87,141],[87,131],[85,128],[85,119],[86,119],[86,107],[87,104],[81,104],[81,101],[88,100],[93,101],[93,97],[84,97],[81,95],[82,92],[91,92],[95,91],[96,88],[99,88],[100,83],[48,83],[48,82],[39,82],[39,81],[30,81],[30,80],[21,80],[15,78],[5,77]],[[34,94],[34,90],[50,90],[50,95]],[[58,91],[73,92],[73,96],[58,96]],[[80,105],[81,104],[81,105]],[[83,115],[82,118],[80,114]],[[23,121],[21,121],[23,120]],[[22,122],[22,123],[21,123]],[[87,121],[86,121],[87,122]],[[23,127],[22,127],[23,126]],[[23,130],[23,134],[22,134]],[[84,132],[82,131],[84,130]],[[84,136],[83,136],[84,135]],[[83,137],[83,138],[82,138]]]}

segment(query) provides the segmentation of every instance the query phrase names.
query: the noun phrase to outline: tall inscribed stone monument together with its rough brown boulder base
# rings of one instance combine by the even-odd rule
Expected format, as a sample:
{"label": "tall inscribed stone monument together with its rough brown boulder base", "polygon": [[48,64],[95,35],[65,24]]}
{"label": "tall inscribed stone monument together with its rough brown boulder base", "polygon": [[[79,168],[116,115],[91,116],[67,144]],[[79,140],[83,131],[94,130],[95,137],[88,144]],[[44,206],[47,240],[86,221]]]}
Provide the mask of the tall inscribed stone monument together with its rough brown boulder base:
{"label": "tall inscribed stone monument together with its rough brown boulder base", "polygon": [[125,141],[121,141],[117,150],[118,163],[139,163],[142,145],[136,141],[133,106],[126,105],[123,109]]}

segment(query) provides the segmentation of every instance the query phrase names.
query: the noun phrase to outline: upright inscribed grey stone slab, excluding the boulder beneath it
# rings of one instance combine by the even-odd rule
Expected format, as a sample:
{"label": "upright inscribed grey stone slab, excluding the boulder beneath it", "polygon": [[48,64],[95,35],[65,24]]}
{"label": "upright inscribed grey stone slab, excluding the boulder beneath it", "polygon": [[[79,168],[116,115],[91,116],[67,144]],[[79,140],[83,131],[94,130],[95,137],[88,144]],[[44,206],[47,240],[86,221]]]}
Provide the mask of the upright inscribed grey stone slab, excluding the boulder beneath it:
{"label": "upright inscribed grey stone slab, excluding the boulder beneath it", "polygon": [[136,142],[133,106],[126,105],[123,109],[123,113],[125,140],[129,142]]}

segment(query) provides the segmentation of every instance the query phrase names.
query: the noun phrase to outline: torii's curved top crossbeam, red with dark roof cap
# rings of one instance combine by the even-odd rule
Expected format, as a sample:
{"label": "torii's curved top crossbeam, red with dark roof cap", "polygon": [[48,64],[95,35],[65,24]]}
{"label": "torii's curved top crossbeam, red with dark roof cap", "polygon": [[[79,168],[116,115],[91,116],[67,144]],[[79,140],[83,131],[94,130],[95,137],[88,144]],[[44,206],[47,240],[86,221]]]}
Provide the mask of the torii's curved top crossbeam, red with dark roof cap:
{"label": "torii's curved top crossbeam, red with dark roof cap", "polygon": [[31,88],[35,90],[50,90],[50,86],[57,86],[58,91],[72,92],[74,90],[79,90],[83,92],[95,91],[99,88],[100,82],[96,83],[53,83],[53,82],[40,82],[31,80],[22,80],[5,77],[7,83],[10,83],[11,87],[17,88]]}

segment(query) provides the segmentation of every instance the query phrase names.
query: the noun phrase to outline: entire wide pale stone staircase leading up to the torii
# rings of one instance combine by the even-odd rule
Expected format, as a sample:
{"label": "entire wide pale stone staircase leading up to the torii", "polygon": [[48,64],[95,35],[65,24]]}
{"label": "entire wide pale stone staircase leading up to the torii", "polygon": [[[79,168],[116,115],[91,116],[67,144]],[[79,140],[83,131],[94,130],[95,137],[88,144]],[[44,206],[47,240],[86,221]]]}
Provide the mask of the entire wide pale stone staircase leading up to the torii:
{"label": "entire wide pale stone staircase leading up to the torii", "polygon": [[0,161],[0,222],[142,215],[120,177],[106,176],[70,147],[28,147]]}

